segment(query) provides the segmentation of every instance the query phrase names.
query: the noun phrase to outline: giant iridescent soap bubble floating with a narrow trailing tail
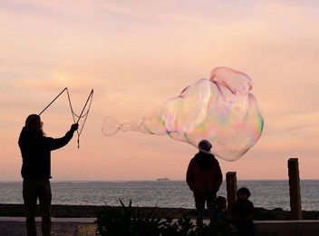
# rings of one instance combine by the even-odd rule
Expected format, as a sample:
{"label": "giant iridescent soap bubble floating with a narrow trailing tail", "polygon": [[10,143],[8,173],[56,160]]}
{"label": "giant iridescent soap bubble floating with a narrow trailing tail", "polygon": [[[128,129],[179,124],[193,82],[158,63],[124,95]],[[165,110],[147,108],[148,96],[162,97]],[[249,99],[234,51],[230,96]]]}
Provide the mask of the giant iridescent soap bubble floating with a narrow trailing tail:
{"label": "giant iridescent soap bubble floating with a narrow trailing tail", "polygon": [[121,131],[168,134],[198,148],[199,141],[212,143],[211,152],[226,161],[242,157],[259,139],[264,126],[256,98],[249,91],[247,74],[227,67],[212,70],[136,123],[119,123],[107,116],[102,133]]}

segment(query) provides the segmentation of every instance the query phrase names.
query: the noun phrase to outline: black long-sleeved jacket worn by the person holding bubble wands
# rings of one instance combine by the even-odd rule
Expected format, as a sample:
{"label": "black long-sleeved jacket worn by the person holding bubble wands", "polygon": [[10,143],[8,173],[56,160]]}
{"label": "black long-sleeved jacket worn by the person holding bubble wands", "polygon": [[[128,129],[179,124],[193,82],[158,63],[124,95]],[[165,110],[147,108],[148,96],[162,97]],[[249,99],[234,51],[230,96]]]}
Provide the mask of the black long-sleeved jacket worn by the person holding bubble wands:
{"label": "black long-sleeved jacket worn by the person holding bubble wands", "polygon": [[19,137],[19,147],[23,159],[21,175],[25,179],[43,180],[51,178],[51,151],[70,142],[73,131],[68,131],[62,138],[32,138],[29,128],[24,127]]}

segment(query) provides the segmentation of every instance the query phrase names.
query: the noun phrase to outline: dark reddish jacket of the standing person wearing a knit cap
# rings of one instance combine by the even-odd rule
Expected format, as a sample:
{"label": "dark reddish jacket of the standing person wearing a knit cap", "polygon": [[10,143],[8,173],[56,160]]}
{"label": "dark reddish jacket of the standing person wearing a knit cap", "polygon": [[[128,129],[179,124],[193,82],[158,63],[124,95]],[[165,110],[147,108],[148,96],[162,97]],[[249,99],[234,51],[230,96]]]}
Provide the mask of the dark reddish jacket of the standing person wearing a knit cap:
{"label": "dark reddish jacket of the standing person wearing a knit cap", "polygon": [[223,175],[215,156],[199,151],[189,162],[186,182],[195,197],[216,194],[223,182]]}

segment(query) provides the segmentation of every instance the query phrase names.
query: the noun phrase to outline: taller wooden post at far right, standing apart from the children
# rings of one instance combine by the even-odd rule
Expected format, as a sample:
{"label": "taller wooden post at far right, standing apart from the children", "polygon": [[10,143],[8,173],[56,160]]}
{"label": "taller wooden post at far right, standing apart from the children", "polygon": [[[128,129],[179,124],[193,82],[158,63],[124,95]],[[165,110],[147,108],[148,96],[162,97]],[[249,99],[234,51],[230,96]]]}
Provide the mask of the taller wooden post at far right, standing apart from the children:
{"label": "taller wooden post at far right, standing apart from the children", "polygon": [[292,220],[302,219],[298,158],[288,160],[289,195]]}

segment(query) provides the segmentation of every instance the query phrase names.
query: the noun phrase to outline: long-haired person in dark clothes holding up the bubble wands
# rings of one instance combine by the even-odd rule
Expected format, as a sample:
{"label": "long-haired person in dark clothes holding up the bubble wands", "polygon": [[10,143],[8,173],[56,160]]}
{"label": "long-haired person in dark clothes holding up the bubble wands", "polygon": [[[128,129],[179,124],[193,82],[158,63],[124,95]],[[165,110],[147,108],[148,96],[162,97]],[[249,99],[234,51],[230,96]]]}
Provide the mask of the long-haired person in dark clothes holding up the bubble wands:
{"label": "long-haired person in dark clothes holding up the bubble wands", "polygon": [[78,128],[79,124],[73,123],[63,137],[55,139],[44,135],[43,123],[38,114],[30,114],[25,120],[18,143],[23,159],[21,175],[24,179],[23,196],[27,235],[36,235],[35,210],[38,198],[43,236],[51,235],[51,151],[69,143]]}

